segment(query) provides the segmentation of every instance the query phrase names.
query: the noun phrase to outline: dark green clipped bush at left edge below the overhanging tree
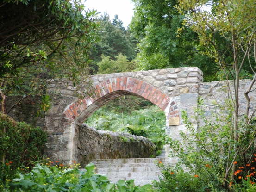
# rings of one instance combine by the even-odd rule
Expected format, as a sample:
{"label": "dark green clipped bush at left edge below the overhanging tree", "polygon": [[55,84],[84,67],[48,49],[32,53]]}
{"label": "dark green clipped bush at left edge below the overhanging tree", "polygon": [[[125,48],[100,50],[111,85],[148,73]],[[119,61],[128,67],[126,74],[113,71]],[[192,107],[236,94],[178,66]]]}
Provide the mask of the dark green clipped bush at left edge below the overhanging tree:
{"label": "dark green clipped bush at left edge below the overhanging tree", "polygon": [[0,155],[5,162],[0,165],[0,185],[12,179],[18,167],[29,167],[42,159],[46,133],[39,127],[15,122],[0,113]]}

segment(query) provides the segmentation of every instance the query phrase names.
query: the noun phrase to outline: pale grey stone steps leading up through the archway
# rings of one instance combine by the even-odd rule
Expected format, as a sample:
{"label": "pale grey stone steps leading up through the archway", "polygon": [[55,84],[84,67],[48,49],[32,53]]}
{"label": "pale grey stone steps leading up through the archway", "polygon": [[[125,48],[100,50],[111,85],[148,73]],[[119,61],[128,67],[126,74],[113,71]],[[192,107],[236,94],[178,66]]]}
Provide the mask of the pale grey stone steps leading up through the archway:
{"label": "pale grey stone steps leading up through the archway", "polygon": [[165,158],[97,159],[92,162],[96,173],[107,175],[112,182],[133,179],[135,185],[145,185],[159,180],[161,170],[156,167],[157,161],[164,163]]}

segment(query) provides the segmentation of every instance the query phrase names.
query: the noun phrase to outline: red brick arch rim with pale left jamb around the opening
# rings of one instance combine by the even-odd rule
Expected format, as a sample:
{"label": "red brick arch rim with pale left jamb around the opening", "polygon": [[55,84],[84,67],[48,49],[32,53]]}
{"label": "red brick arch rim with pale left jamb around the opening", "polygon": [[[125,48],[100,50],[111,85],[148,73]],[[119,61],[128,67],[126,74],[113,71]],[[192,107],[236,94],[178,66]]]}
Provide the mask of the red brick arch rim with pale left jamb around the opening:
{"label": "red brick arch rim with pale left jamb around the opening", "polygon": [[69,143],[66,143],[67,159],[64,162],[69,163],[76,160],[75,149],[75,126],[82,124],[94,111],[99,109],[106,102],[122,95],[135,95],[149,100],[161,108],[166,115],[166,125],[169,126],[168,119],[179,117],[179,110],[176,102],[163,93],[159,88],[150,83],[138,80],[133,77],[114,77],[94,84],[94,97],[86,97],[69,104],[62,113],[59,126],[64,129],[64,136]]}

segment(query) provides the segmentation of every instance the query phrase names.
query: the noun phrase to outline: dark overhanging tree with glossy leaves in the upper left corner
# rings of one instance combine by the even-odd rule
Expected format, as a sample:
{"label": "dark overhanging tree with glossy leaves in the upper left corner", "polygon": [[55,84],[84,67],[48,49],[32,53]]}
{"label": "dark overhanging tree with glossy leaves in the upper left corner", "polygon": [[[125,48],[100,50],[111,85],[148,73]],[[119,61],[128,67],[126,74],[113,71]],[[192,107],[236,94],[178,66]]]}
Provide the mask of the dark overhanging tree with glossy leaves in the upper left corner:
{"label": "dark overhanging tree with glossy leaves in the upper left corner", "polygon": [[[0,3],[0,99],[41,94],[48,78],[87,78],[95,41],[95,11],[80,0],[3,0]],[[81,78],[80,78],[81,79]],[[46,106],[46,105],[45,105]],[[45,107],[44,107],[45,108]]]}

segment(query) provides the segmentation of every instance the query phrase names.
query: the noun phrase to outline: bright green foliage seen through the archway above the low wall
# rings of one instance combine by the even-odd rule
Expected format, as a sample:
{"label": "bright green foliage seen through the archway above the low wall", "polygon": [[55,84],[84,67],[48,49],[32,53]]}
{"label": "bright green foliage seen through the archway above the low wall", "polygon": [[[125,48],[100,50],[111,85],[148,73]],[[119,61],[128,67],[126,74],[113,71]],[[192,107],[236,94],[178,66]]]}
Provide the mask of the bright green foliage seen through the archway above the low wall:
{"label": "bright green foliage seen through the archway above the low wall", "polygon": [[[132,98],[131,96],[128,101],[134,101]],[[112,102],[117,103],[118,99]],[[129,108],[132,104],[127,104],[126,108],[122,105],[117,107],[118,105],[107,104],[95,111],[86,123],[99,130],[119,131],[148,137],[156,144],[156,150],[162,150],[164,143],[162,139],[165,136],[165,114],[157,106],[149,106],[144,102],[145,100],[141,99],[140,104],[134,105],[133,103],[134,108]]]}

